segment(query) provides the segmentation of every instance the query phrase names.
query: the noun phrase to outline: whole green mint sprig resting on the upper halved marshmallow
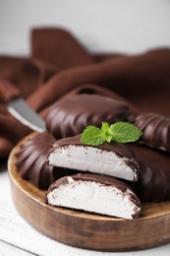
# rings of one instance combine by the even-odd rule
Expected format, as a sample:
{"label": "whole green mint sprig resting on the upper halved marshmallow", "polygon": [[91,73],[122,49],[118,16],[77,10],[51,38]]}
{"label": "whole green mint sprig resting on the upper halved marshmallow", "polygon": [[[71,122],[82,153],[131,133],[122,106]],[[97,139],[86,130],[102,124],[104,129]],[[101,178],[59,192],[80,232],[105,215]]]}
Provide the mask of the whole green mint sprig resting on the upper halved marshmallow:
{"label": "whole green mint sprig resting on the upper halved marshmallow", "polygon": [[87,126],[82,134],[81,142],[86,145],[99,146],[105,142],[130,143],[136,142],[142,136],[142,131],[132,123],[117,122],[109,126],[102,122],[101,129]]}

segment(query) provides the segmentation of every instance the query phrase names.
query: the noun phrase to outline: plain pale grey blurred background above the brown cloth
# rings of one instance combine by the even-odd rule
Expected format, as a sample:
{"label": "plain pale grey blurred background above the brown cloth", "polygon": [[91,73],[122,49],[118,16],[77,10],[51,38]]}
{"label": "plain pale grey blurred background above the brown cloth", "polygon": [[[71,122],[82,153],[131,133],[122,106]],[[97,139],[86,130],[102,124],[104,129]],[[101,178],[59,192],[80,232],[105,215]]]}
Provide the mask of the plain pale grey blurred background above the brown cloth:
{"label": "plain pale grey blurred background above the brown cloth", "polygon": [[169,0],[0,0],[0,53],[28,55],[34,27],[62,27],[91,52],[170,46]]}

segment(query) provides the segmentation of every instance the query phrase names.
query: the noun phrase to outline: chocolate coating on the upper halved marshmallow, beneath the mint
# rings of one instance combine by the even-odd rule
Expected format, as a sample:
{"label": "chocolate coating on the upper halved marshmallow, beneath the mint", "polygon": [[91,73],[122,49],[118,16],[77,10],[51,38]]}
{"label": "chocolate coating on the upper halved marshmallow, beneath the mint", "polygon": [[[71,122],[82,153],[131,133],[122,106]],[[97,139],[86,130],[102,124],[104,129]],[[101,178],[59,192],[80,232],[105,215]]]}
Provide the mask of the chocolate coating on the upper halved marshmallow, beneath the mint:
{"label": "chocolate coating on the upper halved marshmallow, beneath the mint", "polygon": [[[68,145],[92,147],[92,146],[87,146],[81,142],[81,135],[63,138],[53,144],[53,146],[51,147],[51,149],[48,152],[47,162],[48,162],[49,155],[52,152],[54,152],[56,149],[58,149],[60,147],[64,148],[65,146],[68,146]],[[136,159],[134,152],[131,151],[131,149],[129,149],[128,147],[126,147],[125,144],[116,143],[116,142],[104,143],[103,145],[97,146],[97,148],[101,149],[103,151],[114,152],[119,158],[126,159],[127,165],[129,165],[134,171],[134,180],[138,180],[139,168],[140,168],[139,163]]]}

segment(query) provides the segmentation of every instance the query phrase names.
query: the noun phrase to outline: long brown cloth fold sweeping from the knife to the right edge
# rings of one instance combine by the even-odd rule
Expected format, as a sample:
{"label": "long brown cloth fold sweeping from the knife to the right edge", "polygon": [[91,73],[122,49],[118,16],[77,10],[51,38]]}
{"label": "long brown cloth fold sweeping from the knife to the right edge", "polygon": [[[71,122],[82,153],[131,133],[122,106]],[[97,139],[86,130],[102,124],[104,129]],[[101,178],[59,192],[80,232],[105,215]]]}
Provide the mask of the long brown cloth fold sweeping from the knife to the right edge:
{"label": "long brown cloth fold sweeping from the knife to the right edge", "polygon": [[[79,85],[93,83],[126,97],[146,111],[169,113],[170,49],[157,49],[139,56],[109,59],[71,68],[54,75],[42,89],[28,97],[41,110]],[[39,100],[35,100],[39,96]],[[159,96],[159,101],[155,98]]]}

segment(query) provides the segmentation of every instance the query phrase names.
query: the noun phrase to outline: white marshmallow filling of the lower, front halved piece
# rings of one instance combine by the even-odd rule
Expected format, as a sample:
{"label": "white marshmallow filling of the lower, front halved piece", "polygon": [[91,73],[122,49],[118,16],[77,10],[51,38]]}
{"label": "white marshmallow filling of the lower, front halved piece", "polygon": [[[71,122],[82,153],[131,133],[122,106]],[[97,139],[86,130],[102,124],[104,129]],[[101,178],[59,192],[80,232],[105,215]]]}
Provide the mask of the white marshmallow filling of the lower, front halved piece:
{"label": "white marshmallow filling of the lower, front halved piece", "polygon": [[132,220],[141,211],[131,200],[132,196],[134,193],[129,188],[121,191],[114,185],[105,186],[99,182],[68,177],[68,183],[47,194],[47,202],[54,206]]}

